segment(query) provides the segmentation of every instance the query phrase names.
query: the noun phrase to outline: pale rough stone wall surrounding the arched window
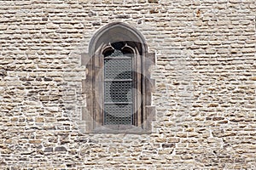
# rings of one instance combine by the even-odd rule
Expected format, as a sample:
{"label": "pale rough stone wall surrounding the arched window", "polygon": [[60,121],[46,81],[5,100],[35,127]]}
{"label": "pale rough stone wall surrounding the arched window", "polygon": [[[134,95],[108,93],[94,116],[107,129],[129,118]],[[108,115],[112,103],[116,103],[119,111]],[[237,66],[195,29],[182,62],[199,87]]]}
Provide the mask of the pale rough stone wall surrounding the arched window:
{"label": "pale rough stone wall surrounding the arched window", "polygon": [[[255,169],[254,0],[0,1],[1,169]],[[156,53],[152,134],[85,134],[81,54],[102,26]]]}

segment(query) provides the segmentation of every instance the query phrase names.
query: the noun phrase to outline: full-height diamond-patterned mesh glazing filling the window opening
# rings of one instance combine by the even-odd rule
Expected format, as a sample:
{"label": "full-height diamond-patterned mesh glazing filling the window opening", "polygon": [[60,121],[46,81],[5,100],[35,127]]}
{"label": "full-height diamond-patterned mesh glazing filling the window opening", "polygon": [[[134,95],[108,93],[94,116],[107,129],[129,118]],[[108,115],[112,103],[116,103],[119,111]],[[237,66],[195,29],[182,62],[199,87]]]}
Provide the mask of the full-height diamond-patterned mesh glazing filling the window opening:
{"label": "full-height diamond-patterned mesh glazing filling the window opening", "polygon": [[114,50],[104,59],[104,123],[132,124],[132,59]]}

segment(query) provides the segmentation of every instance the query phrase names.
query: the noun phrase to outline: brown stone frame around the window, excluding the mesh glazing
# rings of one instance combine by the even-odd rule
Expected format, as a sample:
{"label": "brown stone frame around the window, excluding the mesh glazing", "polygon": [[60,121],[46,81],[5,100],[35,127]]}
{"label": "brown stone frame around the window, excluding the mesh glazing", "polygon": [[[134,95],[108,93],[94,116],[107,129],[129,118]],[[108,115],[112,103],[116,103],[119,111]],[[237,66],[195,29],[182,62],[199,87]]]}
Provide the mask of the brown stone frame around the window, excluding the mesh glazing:
{"label": "brown stone frame around the window, excluding the mesh glazing", "polygon": [[[131,56],[132,60],[131,123],[106,122],[104,59],[115,53]],[[82,111],[85,133],[151,133],[151,124],[155,120],[155,107],[151,103],[155,82],[150,78],[149,67],[155,65],[155,54],[148,53],[143,35],[125,23],[108,24],[96,31],[90,40],[89,53],[82,54],[81,59],[87,70],[86,78],[82,80],[82,92],[86,96]],[[118,71],[119,65],[116,66]]]}

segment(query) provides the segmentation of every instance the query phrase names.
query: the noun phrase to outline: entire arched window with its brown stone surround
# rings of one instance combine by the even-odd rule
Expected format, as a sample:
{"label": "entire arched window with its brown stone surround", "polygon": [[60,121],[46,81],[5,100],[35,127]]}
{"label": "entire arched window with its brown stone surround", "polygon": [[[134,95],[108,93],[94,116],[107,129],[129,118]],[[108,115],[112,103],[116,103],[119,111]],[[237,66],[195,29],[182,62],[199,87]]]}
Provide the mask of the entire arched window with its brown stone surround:
{"label": "entire arched window with its brown stone surround", "polygon": [[91,39],[82,63],[88,70],[83,83],[86,132],[151,132],[154,80],[148,68],[154,54],[148,54],[142,34],[124,23],[109,24]]}

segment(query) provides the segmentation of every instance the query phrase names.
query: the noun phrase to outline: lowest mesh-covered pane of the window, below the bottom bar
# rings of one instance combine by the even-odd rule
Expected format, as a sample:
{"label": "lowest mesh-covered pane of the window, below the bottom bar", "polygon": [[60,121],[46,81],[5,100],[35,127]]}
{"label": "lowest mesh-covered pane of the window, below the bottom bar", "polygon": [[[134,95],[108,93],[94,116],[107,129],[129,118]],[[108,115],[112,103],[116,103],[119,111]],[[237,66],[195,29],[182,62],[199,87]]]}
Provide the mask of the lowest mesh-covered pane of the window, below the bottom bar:
{"label": "lowest mesh-covered pane of the window, below the bottom bar", "polygon": [[132,105],[105,105],[104,113],[107,125],[132,124]]}

